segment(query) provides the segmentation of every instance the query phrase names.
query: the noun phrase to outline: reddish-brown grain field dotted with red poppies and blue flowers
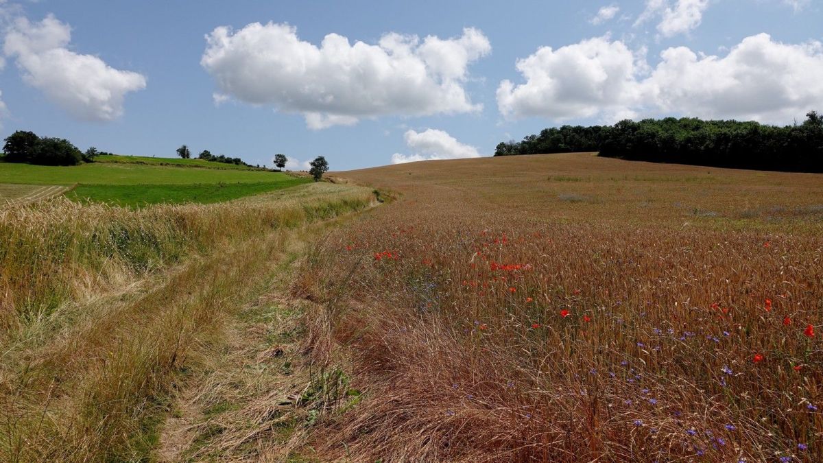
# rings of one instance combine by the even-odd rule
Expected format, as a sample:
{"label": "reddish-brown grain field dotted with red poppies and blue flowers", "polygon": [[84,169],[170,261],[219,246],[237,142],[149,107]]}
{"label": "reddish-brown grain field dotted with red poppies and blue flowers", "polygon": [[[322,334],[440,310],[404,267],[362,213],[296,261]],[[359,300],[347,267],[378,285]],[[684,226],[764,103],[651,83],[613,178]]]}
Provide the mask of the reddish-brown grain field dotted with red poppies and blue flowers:
{"label": "reddish-brown grain field dotted with red poppies and blue flowers", "polygon": [[312,355],[364,392],[314,434],[325,459],[823,460],[821,175],[589,154],[337,175],[402,197],[295,282],[325,305]]}

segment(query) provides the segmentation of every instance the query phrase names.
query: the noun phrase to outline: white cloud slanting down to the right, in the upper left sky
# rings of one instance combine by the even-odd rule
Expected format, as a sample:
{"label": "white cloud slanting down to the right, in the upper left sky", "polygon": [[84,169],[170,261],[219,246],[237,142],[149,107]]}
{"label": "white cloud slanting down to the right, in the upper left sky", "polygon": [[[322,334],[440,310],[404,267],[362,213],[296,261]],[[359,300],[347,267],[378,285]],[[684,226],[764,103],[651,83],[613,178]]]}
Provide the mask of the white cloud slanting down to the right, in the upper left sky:
{"label": "white cloud slanting down to the right, in the upper left sky", "polygon": [[71,40],[71,28],[53,15],[36,23],[18,17],[3,51],[16,58],[26,83],[77,118],[117,119],[126,94],[146,88],[146,77],[112,68],[91,54],[74,53],[67,49]]}

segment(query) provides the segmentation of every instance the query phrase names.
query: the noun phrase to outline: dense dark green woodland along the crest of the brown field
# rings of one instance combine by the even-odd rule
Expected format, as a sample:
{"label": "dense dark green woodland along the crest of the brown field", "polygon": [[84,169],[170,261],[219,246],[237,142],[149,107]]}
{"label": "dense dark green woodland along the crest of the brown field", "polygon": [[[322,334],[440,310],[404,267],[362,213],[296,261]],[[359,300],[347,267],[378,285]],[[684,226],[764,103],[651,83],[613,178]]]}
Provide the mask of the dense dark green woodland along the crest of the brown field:
{"label": "dense dark green woodland along the crest of the brown field", "polygon": [[823,172],[823,116],[786,127],[694,118],[622,120],[591,127],[543,129],[500,143],[495,156],[599,152],[602,157],[770,171]]}

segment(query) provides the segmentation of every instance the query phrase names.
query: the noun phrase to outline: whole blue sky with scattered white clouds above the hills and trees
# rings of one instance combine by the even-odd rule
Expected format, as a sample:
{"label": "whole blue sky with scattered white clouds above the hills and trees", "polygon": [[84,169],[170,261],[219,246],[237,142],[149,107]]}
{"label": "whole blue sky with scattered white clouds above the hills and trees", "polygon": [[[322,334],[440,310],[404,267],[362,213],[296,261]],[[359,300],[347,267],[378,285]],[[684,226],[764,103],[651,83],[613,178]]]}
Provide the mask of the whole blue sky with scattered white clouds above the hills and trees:
{"label": "whole blue sky with scattered white clouds above the hills and trees", "polygon": [[816,0],[283,3],[0,0],[0,136],[346,170],[559,124],[823,110]]}

